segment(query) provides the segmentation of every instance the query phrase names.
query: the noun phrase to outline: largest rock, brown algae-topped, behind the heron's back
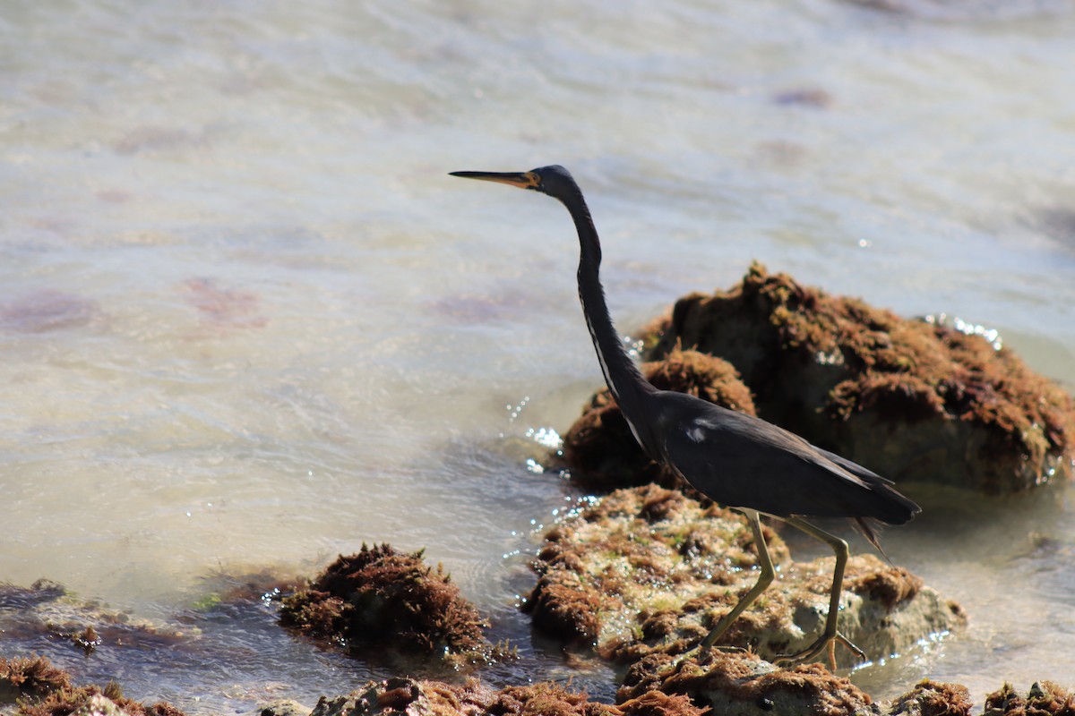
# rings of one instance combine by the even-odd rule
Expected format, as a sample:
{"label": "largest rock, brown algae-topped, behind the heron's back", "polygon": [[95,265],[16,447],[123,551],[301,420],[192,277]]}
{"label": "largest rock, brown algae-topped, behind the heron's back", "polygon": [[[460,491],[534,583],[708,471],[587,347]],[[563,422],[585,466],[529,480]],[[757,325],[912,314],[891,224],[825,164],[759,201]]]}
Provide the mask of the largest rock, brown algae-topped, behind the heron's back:
{"label": "largest rock, brown algae-topped, behind the heron's back", "polygon": [[760,417],[898,483],[1006,494],[1072,474],[1075,399],[977,326],[902,319],[754,264],[651,327],[653,357],[721,356]]}

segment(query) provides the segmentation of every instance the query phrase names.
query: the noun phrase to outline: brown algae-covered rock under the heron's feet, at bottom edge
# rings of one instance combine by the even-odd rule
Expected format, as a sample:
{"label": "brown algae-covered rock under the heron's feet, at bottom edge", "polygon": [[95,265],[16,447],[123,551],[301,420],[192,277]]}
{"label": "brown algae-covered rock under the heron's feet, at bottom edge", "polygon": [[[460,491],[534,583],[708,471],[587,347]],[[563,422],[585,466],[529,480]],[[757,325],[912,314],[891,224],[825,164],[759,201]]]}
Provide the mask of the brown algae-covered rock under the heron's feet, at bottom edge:
{"label": "brown algae-covered rock under the heron's feet, at bottom edge", "polygon": [[878,714],[869,695],[818,663],[777,669],[755,654],[710,651],[676,661],[662,654],[628,671],[617,701],[659,689],[687,695],[710,714]]}

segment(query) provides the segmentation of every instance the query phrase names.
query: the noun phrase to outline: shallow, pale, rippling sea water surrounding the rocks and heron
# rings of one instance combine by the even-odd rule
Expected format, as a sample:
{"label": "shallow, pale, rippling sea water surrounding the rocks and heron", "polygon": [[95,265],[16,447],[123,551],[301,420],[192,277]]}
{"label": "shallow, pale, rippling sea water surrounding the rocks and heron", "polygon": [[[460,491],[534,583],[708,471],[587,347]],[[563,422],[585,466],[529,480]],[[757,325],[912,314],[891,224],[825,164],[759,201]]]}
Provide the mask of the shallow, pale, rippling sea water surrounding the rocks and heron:
{"label": "shallow, pale, rippling sea water surrounding the rocks and heron", "polygon": [[[625,332],[759,259],[1075,385],[1075,14],[872,4],[0,4],[0,581],[170,618],[426,546],[520,645],[488,680],[571,674],[514,607],[577,497],[533,432],[601,380],[577,245],[453,170],[569,165]],[[1075,684],[1071,493],[938,503],[887,550],[971,626],[856,681]],[[49,654],[191,711],[384,675],[236,623],[245,669]]]}

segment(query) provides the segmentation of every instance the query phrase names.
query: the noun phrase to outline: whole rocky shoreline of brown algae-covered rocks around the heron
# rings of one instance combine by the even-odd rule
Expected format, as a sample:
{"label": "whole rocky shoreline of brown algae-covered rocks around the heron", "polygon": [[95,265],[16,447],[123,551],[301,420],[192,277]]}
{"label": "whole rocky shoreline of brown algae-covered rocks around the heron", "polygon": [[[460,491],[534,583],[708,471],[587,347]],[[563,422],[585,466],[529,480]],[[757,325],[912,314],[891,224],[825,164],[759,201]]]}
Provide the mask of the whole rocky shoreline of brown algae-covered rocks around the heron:
{"label": "whole rocky shoreline of brown algae-covered rocks around the heron", "polygon": [[[1067,479],[1075,400],[1031,372],[980,326],[906,320],[751,266],[729,291],[686,296],[654,322],[644,371],[659,388],[760,414],[819,445],[897,478],[985,494]],[[314,705],[272,700],[260,716],[702,716],[702,714],[959,715],[968,689],[929,680],[875,702],[846,676],[857,657],[777,668],[765,659],[809,644],[828,610],[831,558],[797,562],[770,526],[777,579],[725,634],[696,645],[756,578],[752,534],[739,513],[677,483],[637,449],[618,408],[599,391],[547,456],[587,491],[544,534],[535,584],[522,600],[533,628],[604,660],[621,675],[615,703],[532,674],[493,689],[483,669],[515,658],[490,642],[488,620],[441,566],[384,543],[343,556],[309,580],[270,579],[218,597],[261,600],[281,627],[348,656],[402,653],[418,676],[372,680]],[[930,505],[927,509],[944,509]],[[272,583],[271,583],[272,582]],[[271,583],[271,584],[270,584]],[[918,576],[856,556],[841,595],[841,629],[871,658],[959,631],[973,615]],[[17,632],[86,655],[140,642],[189,645],[196,629],[155,624],[80,600],[57,584],[0,584],[2,638]],[[4,625],[8,625],[6,627]],[[830,670],[831,669],[831,670]],[[439,681],[424,678],[449,673]],[[1075,695],[1048,682],[1026,695],[1001,685],[989,716],[1073,714]],[[0,715],[182,716],[143,704],[114,683],[76,686],[45,657],[0,656]]]}

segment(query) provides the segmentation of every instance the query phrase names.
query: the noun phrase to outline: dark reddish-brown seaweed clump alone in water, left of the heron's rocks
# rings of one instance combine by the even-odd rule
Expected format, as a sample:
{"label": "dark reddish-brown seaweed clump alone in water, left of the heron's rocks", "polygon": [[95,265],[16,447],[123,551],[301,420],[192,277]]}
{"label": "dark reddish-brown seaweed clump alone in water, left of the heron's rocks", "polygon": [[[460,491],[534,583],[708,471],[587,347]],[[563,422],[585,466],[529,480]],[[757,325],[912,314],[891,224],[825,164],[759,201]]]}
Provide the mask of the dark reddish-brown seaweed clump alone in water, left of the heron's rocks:
{"label": "dark reddish-brown seaweed clump alone in water, left of the heron's rocks", "polygon": [[422,551],[401,554],[388,544],[341,555],[302,589],[285,597],[281,623],[348,649],[389,643],[401,651],[444,655],[456,666],[494,656],[488,626],[438,565]]}

